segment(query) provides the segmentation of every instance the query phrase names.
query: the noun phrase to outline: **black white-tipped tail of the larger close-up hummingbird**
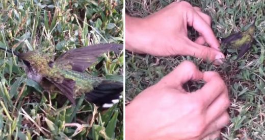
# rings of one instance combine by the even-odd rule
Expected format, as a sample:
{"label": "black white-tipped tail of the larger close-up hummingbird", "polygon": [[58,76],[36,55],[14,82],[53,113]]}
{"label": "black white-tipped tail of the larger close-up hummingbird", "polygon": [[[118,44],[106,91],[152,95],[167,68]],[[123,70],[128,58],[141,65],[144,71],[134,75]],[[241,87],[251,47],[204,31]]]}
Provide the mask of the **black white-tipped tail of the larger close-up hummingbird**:
{"label": "black white-tipped tail of the larger close-up hummingbird", "polygon": [[[86,100],[97,106],[108,108],[115,104],[113,100],[120,99],[122,91],[123,83],[105,80],[92,91],[86,93]],[[104,104],[108,104],[109,106],[104,107]]]}

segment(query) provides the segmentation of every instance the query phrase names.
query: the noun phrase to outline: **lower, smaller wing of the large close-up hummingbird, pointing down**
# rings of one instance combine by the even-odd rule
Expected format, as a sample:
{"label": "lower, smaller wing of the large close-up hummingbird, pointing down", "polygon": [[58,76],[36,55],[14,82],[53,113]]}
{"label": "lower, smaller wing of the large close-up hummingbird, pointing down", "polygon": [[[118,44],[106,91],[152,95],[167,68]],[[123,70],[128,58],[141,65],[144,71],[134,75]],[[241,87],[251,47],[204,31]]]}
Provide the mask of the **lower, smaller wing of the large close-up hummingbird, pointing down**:
{"label": "lower, smaller wing of the large close-up hummingbird, pointing down", "polygon": [[62,82],[58,82],[53,79],[46,79],[55,84],[55,86],[61,90],[62,94],[66,96],[73,105],[75,105],[75,100],[73,99],[73,88],[75,81],[73,81],[72,79],[64,79]]}

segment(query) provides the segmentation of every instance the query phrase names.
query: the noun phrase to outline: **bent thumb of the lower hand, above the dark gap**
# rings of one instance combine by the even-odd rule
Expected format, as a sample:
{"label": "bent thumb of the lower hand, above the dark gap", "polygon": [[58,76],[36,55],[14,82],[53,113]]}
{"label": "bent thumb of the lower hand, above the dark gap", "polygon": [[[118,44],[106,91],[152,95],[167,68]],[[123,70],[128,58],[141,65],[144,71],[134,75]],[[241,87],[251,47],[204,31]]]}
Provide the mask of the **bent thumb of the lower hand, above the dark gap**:
{"label": "bent thumb of the lower hand, above the dark gap", "polygon": [[190,81],[203,78],[203,73],[191,61],[181,62],[171,73],[163,77],[158,84],[164,86],[178,87]]}

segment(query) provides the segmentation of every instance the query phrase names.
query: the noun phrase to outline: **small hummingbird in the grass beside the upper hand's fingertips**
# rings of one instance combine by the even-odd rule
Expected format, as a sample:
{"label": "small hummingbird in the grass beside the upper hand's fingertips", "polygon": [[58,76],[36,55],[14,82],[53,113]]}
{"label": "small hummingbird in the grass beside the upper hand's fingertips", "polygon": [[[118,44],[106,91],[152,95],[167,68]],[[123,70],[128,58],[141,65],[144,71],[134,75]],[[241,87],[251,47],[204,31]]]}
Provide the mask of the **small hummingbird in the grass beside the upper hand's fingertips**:
{"label": "small hummingbird in the grass beside the upper hand's fingertips", "polygon": [[251,45],[254,40],[254,33],[255,33],[255,21],[253,24],[244,32],[237,32],[234,33],[224,39],[222,39],[222,44],[224,44],[227,48],[237,49],[240,50],[239,55],[235,60],[240,59],[244,56],[244,54],[251,48]]}

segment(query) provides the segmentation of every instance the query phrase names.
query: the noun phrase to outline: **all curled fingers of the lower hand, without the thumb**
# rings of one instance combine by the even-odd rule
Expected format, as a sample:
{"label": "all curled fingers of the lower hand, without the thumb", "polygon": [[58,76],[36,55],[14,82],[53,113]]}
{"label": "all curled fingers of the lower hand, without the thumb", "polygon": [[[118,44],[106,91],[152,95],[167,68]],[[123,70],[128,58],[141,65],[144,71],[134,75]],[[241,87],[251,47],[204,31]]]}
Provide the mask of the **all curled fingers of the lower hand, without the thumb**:
{"label": "all curled fingers of the lower hand, without the thumb", "polygon": [[[220,130],[229,123],[229,114],[226,109],[230,105],[227,87],[216,72],[204,72],[203,80],[206,84],[191,95],[201,101],[205,108],[205,124],[202,134],[204,140],[219,137]],[[207,137],[205,137],[207,136]]]}

